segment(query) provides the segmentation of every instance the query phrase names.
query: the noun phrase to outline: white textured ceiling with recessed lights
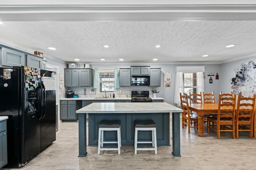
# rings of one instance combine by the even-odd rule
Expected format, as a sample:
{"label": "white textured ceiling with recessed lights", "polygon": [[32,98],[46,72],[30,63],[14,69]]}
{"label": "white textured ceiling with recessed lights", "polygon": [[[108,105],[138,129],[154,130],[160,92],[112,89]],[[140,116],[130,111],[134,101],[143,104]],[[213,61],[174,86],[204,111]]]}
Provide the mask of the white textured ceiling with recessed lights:
{"label": "white textured ceiling with recessed lights", "polygon": [[[74,59],[80,59],[78,63],[225,63],[256,55],[255,20],[3,23],[0,43],[67,63]],[[230,44],[236,46],[226,48]],[[210,56],[202,57],[206,54]],[[152,61],[155,58],[158,61]]]}

